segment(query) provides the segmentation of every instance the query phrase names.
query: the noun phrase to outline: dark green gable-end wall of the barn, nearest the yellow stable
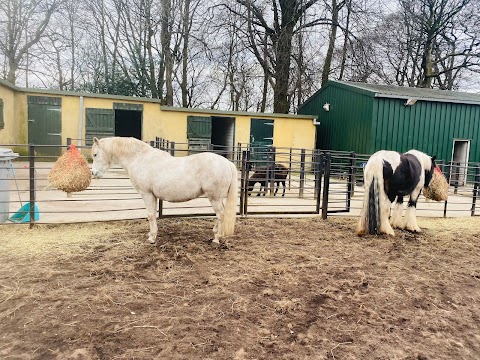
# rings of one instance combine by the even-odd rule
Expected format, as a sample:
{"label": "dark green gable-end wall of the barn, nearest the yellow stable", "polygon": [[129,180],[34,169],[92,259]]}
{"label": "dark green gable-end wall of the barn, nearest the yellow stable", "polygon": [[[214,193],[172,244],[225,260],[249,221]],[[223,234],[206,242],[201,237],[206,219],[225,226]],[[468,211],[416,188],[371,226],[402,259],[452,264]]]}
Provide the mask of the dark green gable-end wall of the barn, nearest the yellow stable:
{"label": "dark green gable-end wall of the barn, nearest the yellow stable", "polygon": [[[323,109],[325,103],[330,111]],[[330,85],[313,95],[299,113],[318,115],[317,148],[368,154],[372,110],[372,96]]]}

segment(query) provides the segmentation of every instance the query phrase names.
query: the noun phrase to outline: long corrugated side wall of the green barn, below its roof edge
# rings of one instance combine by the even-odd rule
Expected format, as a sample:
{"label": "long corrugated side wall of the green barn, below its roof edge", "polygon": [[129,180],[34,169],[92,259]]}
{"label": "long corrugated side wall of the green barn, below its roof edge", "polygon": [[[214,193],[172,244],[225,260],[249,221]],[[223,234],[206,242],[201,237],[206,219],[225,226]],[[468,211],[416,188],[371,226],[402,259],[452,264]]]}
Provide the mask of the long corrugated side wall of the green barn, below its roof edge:
{"label": "long corrugated side wall of the green barn, below its roof edge", "polygon": [[372,152],[418,149],[451,160],[454,139],[471,140],[469,161],[480,161],[480,106],[375,98],[372,121]]}

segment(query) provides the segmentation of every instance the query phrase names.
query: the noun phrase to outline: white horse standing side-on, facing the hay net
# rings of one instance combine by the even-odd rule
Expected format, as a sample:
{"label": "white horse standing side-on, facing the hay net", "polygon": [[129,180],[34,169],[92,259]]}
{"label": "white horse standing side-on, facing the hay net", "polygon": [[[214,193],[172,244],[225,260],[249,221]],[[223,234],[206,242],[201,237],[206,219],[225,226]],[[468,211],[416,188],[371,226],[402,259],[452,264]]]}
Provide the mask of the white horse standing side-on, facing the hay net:
{"label": "white horse standing side-on, facing the hay net", "polygon": [[218,245],[222,236],[233,234],[237,168],[226,158],[208,152],[173,157],[140,140],[124,137],[94,138],[92,157],[92,175],[96,178],[102,177],[113,164],[127,171],[147,208],[150,243],[157,240],[157,199],[182,202],[206,195],[217,216],[213,244]]}

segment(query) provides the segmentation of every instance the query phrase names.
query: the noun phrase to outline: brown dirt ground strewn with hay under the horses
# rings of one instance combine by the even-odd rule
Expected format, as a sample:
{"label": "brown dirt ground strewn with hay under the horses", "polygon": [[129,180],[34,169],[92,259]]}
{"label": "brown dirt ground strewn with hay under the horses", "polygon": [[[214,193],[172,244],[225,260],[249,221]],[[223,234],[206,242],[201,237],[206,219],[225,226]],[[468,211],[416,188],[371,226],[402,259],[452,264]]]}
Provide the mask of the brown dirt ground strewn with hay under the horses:
{"label": "brown dirt ground strewn with hay under the horses", "polygon": [[0,227],[0,358],[480,358],[480,219],[212,224]]}

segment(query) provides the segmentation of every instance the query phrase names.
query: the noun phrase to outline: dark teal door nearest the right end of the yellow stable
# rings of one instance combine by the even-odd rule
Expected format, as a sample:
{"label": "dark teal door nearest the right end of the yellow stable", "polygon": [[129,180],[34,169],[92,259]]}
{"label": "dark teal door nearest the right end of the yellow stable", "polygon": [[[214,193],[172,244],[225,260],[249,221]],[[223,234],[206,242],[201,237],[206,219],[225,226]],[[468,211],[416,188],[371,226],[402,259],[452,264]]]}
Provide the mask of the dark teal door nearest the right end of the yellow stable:
{"label": "dark teal door nearest the right end of the yellow stable", "polygon": [[251,159],[260,161],[267,159],[267,151],[273,145],[273,120],[251,119],[250,121],[250,146]]}

